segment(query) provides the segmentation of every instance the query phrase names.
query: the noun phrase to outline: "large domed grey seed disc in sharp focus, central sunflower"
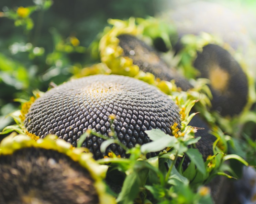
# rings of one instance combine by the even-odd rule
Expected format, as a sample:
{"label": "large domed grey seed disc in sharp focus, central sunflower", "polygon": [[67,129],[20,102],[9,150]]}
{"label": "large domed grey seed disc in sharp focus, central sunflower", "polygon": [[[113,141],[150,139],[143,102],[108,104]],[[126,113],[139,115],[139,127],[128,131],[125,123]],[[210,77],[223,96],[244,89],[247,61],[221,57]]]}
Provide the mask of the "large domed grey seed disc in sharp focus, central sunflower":
{"label": "large domed grey seed disc in sharp focus, central sunflower", "polygon": [[[77,140],[87,130],[93,129],[109,135],[109,116],[115,115],[113,128],[119,140],[128,148],[149,142],[145,130],[161,129],[171,135],[171,126],[178,123],[178,106],[166,94],[143,81],[118,75],[94,75],[66,82],[47,91],[30,107],[25,127],[41,138],[55,134],[77,145]],[[103,139],[91,135],[82,146],[94,158],[102,158]],[[125,151],[111,144],[116,155]]]}

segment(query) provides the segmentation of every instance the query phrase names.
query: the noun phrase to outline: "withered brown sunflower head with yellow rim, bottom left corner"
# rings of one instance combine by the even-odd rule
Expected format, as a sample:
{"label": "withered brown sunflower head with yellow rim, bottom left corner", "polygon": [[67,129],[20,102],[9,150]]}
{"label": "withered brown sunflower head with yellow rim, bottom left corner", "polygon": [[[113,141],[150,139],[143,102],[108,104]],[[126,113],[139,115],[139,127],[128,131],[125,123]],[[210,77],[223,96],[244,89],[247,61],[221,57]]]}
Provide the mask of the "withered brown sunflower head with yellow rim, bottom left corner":
{"label": "withered brown sunflower head with yellow rim, bottom left corner", "polygon": [[5,138],[0,145],[0,203],[113,201],[102,183],[105,166],[84,149],[47,137]]}

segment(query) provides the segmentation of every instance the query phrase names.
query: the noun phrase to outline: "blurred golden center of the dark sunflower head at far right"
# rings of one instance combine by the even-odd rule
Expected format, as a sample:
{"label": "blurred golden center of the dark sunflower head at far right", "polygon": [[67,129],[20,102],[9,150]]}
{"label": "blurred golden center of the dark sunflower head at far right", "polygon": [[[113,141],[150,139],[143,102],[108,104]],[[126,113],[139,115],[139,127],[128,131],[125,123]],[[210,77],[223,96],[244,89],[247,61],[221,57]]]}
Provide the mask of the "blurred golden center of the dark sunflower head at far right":
{"label": "blurred golden center of the dark sunflower head at far right", "polygon": [[214,65],[210,69],[209,79],[212,88],[224,93],[229,83],[229,73],[221,69],[218,65]]}

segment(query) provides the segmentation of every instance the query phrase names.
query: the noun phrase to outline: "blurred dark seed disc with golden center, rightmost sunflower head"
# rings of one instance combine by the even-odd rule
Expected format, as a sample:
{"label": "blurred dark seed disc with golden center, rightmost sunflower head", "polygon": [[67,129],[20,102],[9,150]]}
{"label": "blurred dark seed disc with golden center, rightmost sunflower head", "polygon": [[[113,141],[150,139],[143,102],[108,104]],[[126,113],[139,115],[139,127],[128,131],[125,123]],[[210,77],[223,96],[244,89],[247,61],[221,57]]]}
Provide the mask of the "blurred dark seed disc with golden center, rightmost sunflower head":
{"label": "blurred dark seed disc with golden center, rightmost sunflower head", "polygon": [[228,51],[218,45],[208,44],[198,53],[194,67],[201,72],[200,77],[213,78],[210,89],[214,110],[224,116],[233,116],[243,110],[247,103],[248,79]]}

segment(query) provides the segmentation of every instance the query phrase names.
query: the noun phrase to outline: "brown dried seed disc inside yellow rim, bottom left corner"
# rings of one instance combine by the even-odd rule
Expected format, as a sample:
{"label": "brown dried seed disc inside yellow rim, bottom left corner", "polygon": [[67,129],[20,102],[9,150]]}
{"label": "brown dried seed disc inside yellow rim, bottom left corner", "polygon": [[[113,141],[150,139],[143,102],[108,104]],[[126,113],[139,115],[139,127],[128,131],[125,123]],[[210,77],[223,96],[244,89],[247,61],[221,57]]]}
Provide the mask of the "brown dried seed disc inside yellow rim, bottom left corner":
{"label": "brown dried seed disc inside yellow rim, bottom left corner", "polygon": [[0,203],[99,203],[89,172],[55,150],[0,155]]}

